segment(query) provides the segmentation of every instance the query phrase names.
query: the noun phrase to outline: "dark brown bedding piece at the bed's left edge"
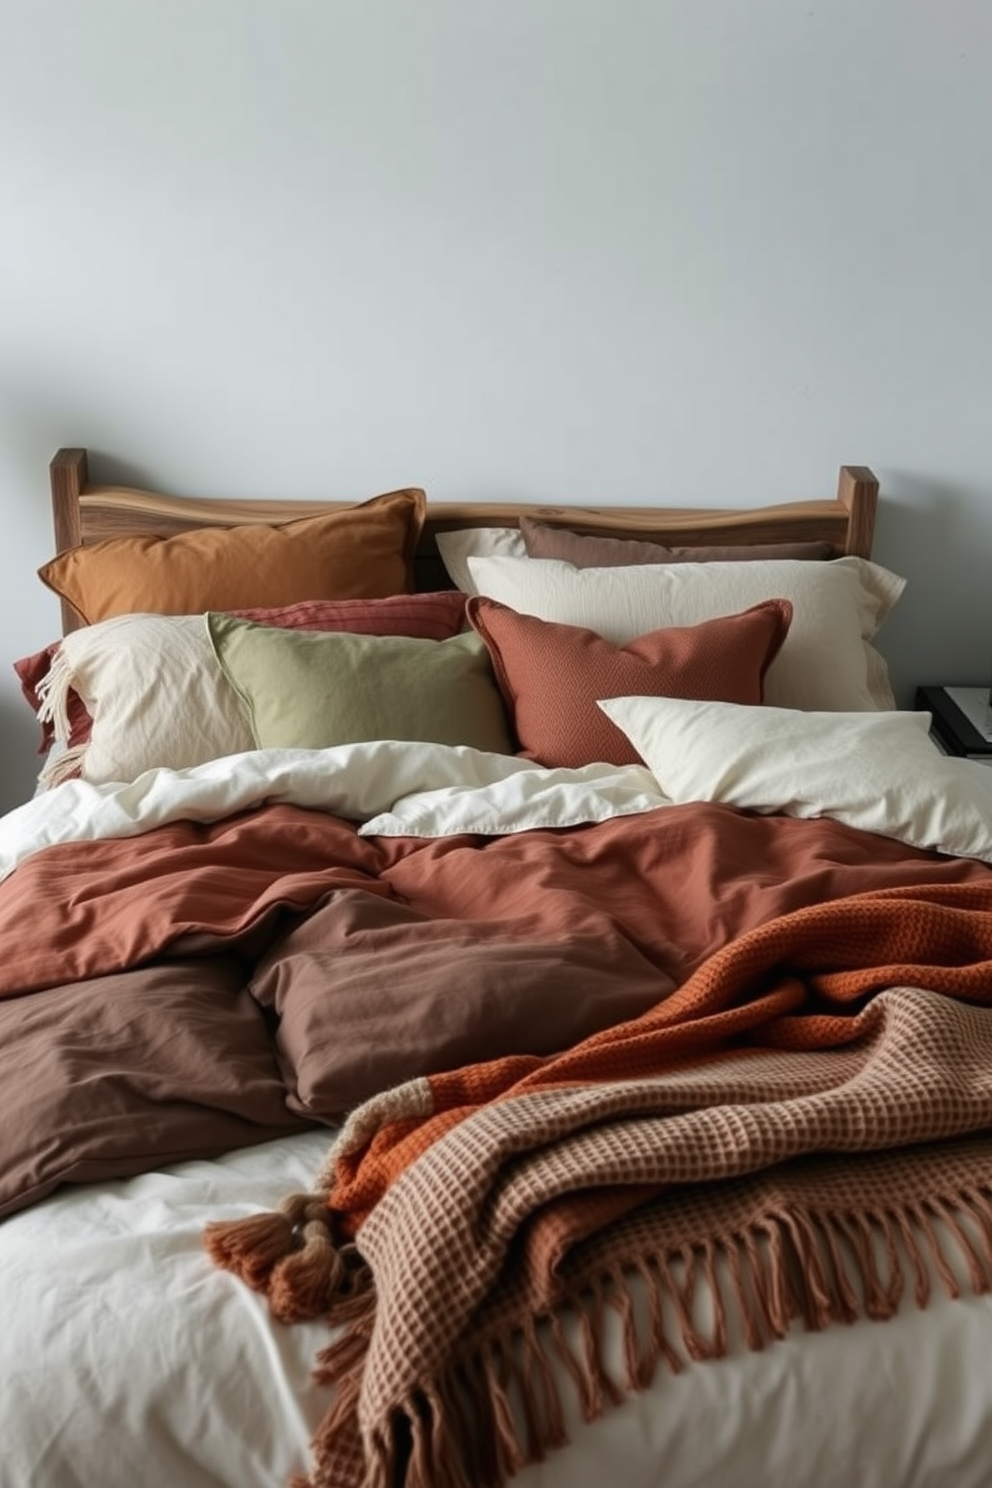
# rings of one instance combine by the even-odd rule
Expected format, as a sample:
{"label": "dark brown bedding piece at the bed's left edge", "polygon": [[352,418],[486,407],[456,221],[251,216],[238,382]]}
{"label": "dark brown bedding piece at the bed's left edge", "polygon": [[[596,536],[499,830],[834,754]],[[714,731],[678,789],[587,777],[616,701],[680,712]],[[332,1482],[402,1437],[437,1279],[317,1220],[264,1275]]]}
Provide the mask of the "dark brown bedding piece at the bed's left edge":
{"label": "dark brown bedding piece at the bed's left edge", "polygon": [[0,1000],[0,1217],[62,1183],[126,1178],[303,1129],[233,955]]}

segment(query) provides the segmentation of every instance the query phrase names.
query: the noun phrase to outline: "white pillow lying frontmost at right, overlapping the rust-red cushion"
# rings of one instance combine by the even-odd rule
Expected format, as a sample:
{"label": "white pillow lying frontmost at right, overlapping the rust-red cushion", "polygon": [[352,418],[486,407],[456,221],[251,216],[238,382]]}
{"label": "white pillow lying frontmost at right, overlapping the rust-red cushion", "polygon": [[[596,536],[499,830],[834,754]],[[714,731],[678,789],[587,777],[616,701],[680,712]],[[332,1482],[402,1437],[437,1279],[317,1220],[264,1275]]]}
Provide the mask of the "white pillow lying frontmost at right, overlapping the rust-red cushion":
{"label": "white pillow lying frontmost at right, overlapping the rust-red cushion", "polygon": [[992,863],[992,769],[943,754],[928,737],[928,713],[799,713],[681,698],[608,698],[599,707],[672,801],[825,815]]}

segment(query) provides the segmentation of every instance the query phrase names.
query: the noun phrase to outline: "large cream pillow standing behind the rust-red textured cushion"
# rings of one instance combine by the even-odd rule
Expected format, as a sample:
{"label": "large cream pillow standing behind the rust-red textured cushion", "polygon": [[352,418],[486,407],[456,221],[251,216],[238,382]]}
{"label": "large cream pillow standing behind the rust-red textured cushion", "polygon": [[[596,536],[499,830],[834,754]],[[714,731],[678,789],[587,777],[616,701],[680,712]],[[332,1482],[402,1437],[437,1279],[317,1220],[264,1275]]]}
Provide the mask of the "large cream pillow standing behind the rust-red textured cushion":
{"label": "large cream pillow standing behind the rust-red textured cushion", "polygon": [[574,568],[540,558],[468,558],[480,594],[541,620],[584,625],[617,646],[665,625],[698,625],[763,600],[793,603],[793,623],[764,677],[764,701],[831,711],[894,708],[869,644],[906,585],[864,558],[803,562],[645,564]]}

